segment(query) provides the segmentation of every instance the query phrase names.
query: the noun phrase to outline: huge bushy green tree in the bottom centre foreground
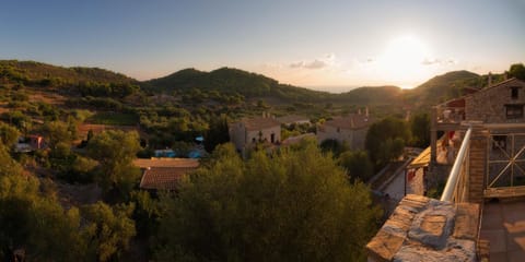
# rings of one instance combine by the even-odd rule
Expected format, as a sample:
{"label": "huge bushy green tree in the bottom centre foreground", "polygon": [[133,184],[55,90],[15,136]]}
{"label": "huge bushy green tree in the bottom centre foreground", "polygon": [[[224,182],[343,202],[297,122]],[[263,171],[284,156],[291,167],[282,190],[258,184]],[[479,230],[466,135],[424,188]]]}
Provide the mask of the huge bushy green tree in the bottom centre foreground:
{"label": "huge bushy green tree in the bottom centre foreground", "polygon": [[164,196],[160,261],[358,261],[378,210],[316,143],[243,162],[233,145]]}

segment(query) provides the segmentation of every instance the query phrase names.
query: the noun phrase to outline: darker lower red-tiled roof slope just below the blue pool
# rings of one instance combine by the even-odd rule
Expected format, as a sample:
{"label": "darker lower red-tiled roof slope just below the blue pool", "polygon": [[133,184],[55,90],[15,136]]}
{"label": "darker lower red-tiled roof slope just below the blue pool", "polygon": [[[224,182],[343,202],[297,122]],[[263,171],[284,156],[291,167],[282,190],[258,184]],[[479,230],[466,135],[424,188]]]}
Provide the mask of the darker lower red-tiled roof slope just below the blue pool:
{"label": "darker lower red-tiled roof slope just below the blue pool", "polygon": [[141,189],[175,190],[179,180],[196,167],[152,167],[144,170]]}

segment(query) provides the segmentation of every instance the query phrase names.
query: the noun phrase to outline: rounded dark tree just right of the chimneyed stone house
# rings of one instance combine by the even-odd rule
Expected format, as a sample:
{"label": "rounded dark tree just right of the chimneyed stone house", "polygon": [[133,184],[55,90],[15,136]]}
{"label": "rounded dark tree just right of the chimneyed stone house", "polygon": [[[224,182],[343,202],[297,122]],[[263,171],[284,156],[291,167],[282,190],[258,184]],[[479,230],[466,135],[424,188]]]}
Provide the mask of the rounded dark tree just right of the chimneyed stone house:
{"label": "rounded dark tree just right of the chimneyed stone house", "polygon": [[407,123],[401,119],[387,117],[370,127],[364,146],[375,167],[381,167],[398,157],[409,140],[410,130]]}

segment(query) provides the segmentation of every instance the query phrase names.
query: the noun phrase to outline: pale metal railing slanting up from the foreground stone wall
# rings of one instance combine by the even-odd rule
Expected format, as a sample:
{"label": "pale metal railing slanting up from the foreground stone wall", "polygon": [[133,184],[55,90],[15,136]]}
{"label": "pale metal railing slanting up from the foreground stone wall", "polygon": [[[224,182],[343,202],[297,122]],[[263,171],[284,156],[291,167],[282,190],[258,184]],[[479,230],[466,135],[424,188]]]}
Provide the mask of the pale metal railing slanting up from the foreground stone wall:
{"label": "pale metal railing slanting up from the foreground stone wall", "polygon": [[462,147],[457,153],[456,160],[452,166],[451,174],[446,180],[445,189],[441,195],[441,201],[466,202],[468,195],[467,178],[469,169],[469,147],[472,128],[468,128],[463,138]]}

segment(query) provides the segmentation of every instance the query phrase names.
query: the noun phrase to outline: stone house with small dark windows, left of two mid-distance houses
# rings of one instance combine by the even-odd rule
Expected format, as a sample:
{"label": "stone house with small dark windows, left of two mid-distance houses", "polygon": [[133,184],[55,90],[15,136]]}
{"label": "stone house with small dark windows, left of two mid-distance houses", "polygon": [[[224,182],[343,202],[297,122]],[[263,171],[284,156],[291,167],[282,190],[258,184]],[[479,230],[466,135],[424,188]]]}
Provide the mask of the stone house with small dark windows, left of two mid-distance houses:
{"label": "stone house with small dark windows, left of two mid-distance houses", "polygon": [[229,124],[230,140],[237,151],[257,143],[280,144],[281,123],[271,117],[245,118]]}

